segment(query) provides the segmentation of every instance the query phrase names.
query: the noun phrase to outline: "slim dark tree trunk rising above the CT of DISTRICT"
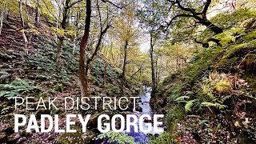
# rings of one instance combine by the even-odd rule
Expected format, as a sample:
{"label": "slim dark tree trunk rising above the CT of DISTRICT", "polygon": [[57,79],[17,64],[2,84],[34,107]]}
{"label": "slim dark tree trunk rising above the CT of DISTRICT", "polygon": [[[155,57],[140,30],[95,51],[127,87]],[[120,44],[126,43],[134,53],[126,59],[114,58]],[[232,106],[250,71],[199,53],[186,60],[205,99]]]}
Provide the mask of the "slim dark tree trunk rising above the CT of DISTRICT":
{"label": "slim dark tree trunk rising above the CT of DISTRICT", "polygon": [[122,83],[121,83],[121,92],[122,92],[122,96],[124,96],[124,90],[126,87],[126,59],[127,59],[127,46],[128,46],[128,42],[126,41],[125,46],[124,46],[124,58],[123,58],[123,65],[122,65]]}

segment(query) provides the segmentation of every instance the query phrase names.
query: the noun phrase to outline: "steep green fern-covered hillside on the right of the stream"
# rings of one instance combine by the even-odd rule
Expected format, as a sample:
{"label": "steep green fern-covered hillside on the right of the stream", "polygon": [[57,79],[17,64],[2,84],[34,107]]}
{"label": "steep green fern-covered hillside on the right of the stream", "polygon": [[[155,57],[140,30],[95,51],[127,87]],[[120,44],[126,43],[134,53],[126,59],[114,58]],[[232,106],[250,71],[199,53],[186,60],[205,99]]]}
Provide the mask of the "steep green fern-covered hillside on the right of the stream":
{"label": "steep green fern-covered hillside on the right of the stream", "polygon": [[170,74],[158,86],[152,106],[156,113],[166,114],[166,130],[175,140],[255,142],[254,22],[250,18],[239,28],[215,35],[222,46],[198,52],[190,66]]}

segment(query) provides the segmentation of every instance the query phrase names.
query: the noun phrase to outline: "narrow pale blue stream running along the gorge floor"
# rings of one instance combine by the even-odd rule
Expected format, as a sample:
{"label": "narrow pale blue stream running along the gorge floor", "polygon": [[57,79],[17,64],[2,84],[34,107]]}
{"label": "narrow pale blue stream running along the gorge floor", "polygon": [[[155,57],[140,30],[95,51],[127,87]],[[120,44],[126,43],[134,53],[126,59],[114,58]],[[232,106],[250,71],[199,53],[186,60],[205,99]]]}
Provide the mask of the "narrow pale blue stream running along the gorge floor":
{"label": "narrow pale blue stream running along the gorge floor", "polygon": [[[144,87],[144,86],[143,86]],[[146,87],[146,89],[142,89],[142,91],[140,92],[140,99],[137,100],[137,104],[139,106],[142,107],[142,112],[138,112],[138,111],[135,111],[134,110],[134,114],[136,115],[142,115],[142,114],[149,114],[149,115],[153,115],[153,112],[151,110],[151,107],[150,107],[150,98],[151,98],[151,88],[150,87]],[[137,122],[137,125],[138,125],[138,122]],[[146,129],[147,126],[146,126],[146,122],[143,122],[143,127]],[[163,129],[162,127],[158,127],[158,129]],[[130,127],[130,130],[131,132],[130,133],[125,133],[131,137],[134,138],[134,141],[135,142],[139,142],[139,143],[149,143],[149,138],[146,136],[145,133],[143,133],[142,131],[139,130],[138,133],[134,132],[134,127],[131,126]],[[154,131],[150,131],[150,133],[147,133],[147,134],[157,134],[157,133],[154,133]]]}

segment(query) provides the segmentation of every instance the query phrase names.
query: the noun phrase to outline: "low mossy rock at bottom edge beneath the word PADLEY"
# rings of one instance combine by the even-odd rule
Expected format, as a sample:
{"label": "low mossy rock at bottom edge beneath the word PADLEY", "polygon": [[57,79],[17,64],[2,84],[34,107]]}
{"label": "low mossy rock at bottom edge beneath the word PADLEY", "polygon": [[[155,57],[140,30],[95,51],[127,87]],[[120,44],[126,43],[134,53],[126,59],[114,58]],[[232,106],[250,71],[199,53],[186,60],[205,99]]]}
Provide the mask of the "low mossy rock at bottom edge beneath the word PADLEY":
{"label": "low mossy rock at bottom edge beneath the word PADLEY", "polygon": [[71,144],[71,143],[90,143],[90,141],[94,138],[95,134],[90,130],[86,130],[86,133],[82,133],[82,128],[77,127],[72,128],[77,130],[76,133],[64,133],[59,136],[56,140],[56,144]]}

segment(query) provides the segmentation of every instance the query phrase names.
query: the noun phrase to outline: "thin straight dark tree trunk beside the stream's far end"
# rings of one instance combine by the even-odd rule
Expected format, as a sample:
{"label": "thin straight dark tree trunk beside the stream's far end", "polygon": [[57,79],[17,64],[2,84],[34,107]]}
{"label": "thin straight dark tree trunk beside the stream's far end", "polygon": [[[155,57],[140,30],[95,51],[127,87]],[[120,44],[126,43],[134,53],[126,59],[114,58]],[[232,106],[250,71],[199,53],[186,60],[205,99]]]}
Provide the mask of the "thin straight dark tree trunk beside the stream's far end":
{"label": "thin straight dark tree trunk beside the stream's far end", "polygon": [[152,34],[150,34],[150,61],[151,61],[151,78],[152,78],[151,96],[154,97],[156,86],[155,86],[155,74],[154,74],[154,44],[153,44]]}

